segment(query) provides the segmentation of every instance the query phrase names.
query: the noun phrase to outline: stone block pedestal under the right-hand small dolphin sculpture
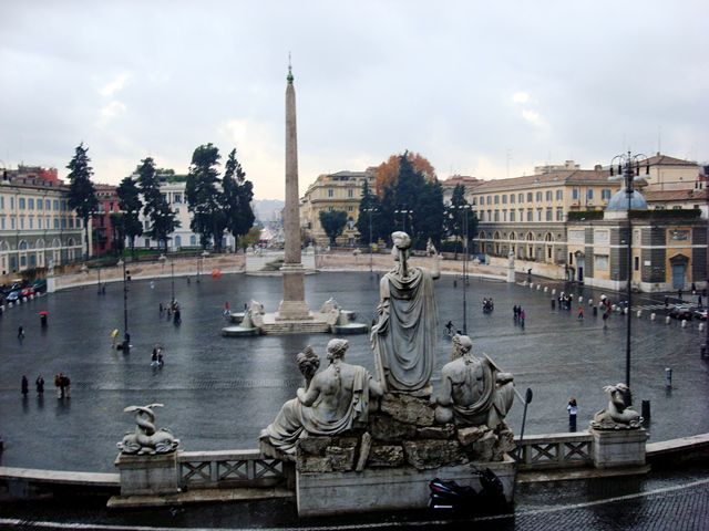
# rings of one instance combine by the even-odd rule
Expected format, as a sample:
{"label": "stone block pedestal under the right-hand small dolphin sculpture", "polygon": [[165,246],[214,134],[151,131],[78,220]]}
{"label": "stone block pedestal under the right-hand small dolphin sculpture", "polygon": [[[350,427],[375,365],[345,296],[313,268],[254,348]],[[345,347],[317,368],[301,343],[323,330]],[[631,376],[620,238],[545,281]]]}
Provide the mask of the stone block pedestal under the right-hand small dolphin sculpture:
{"label": "stone block pedestal under the right-hand small dolphin sculpture", "polygon": [[596,468],[635,467],[645,465],[645,444],[648,439],[644,428],[595,429],[593,436],[593,459]]}

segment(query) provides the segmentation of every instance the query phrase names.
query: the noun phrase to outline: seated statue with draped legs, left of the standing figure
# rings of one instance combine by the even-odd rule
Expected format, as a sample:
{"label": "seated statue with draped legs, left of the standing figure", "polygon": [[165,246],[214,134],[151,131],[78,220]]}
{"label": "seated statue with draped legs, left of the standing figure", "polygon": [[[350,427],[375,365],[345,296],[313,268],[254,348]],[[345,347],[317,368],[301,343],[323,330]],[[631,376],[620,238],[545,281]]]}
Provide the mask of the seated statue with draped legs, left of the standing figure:
{"label": "seated statue with draped legs, left of the standing figure", "polygon": [[[299,388],[296,398],[282,405],[276,419],[261,431],[261,439],[294,456],[296,442],[305,434],[332,436],[367,424],[369,396],[380,396],[381,388],[364,367],[345,363],[348,347],[346,340],[328,343],[330,365],[316,373],[307,388]],[[304,354],[299,362],[311,358]],[[315,366],[312,361],[308,365]]]}

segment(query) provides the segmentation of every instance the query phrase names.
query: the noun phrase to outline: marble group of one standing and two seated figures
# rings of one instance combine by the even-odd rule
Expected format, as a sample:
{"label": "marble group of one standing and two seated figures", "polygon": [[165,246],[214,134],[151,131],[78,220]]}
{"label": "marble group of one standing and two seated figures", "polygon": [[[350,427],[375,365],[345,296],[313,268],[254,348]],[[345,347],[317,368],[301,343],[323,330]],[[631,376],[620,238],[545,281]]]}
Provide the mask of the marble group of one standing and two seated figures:
{"label": "marble group of one standing and two seated figures", "polygon": [[[308,346],[297,357],[306,386],[282,405],[261,431],[261,448],[266,444],[269,451],[275,450],[271,454],[292,460],[297,444],[304,438],[366,430],[370,412],[377,410],[380,402],[381,409],[393,418],[411,423],[407,429],[410,438],[417,439],[411,444],[427,442],[429,439],[417,434],[431,437],[439,433],[435,430],[454,438],[459,427],[479,426],[480,434],[504,431],[511,437],[504,418],[514,397],[513,377],[486,356],[475,357],[470,337],[454,337],[452,360],[442,367],[441,388],[432,396],[430,381],[435,368],[438,330],[433,281],[440,277],[440,257],[429,242],[427,253],[433,258],[432,270],[412,267],[408,262],[409,235],[394,232],[392,241],[394,268],[381,279],[370,336],[376,374],[348,364],[345,354],[349,343],[340,339],[328,343],[328,365],[316,372],[319,358]],[[434,424],[449,428],[435,428]],[[371,431],[377,438],[378,428]]]}

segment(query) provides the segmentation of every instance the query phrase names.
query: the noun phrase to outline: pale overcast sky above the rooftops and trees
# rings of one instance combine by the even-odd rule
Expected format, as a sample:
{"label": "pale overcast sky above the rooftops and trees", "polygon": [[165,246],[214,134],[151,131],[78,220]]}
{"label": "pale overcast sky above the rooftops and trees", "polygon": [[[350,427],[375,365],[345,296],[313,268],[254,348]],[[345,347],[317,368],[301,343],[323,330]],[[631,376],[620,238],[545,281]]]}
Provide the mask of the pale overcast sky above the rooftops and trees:
{"label": "pale overcast sky above the rooftops and trees", "polygon": [[709,158],[709,3],[0,1],[0,166],[84,142],[94,180],[186,173],[236,147],[284,197],[292,53],[300,188],[404,149],[439,178],[504,178],[629,147]]}

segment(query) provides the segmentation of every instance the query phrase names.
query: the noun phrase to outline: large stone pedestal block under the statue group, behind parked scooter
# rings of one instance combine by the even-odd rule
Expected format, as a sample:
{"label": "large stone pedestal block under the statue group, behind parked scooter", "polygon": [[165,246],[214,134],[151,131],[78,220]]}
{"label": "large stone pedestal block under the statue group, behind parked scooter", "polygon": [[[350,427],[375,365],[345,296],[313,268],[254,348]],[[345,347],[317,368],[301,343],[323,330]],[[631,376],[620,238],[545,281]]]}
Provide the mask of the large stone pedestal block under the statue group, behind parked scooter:
{"label": "large stone pedestal block under the statue group, behind parked scooter", "polygon": [[[507,502],[513,500],[514,460],[475,462],[490,468],[504,486]],[[296,473],[299,517],[320,517],[348,512],[425,509],[429,482],[434,478],[453,479],[480,490],[470,465],[453,465],[428,470],[413,467],[366,468],[361,472]]]}

